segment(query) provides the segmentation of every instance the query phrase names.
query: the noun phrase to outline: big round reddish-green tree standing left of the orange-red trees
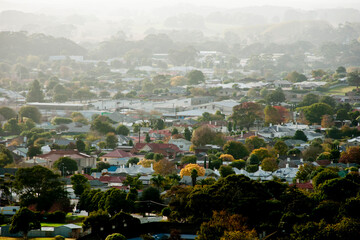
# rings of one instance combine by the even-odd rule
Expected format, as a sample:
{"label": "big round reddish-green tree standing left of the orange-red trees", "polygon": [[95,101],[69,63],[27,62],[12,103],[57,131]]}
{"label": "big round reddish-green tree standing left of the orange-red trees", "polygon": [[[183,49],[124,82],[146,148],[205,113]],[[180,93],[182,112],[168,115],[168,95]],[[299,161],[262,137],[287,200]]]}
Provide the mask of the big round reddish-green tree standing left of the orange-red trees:
{"label": "big round reddish-green tree standing left of the orange-red trees", "polygon": [[240,127],[246,127],[247,130],[250,130],[255,123],[255,120],[262,119],[262,109],[261,106],[253,102],[243,102],[240,105],[233,107],[233,114],[231,119],[236,121]]}

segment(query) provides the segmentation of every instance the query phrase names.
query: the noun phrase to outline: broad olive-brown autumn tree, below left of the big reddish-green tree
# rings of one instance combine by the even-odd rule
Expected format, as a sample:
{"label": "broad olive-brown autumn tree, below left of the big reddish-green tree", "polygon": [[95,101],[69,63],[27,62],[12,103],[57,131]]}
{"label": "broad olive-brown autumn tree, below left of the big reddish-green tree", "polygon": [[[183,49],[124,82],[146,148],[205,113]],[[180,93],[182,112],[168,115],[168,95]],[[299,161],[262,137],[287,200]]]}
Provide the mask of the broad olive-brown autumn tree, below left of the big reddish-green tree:
{"label": "broad olive-brown autumn tree, below left of the big reddish-green tree", "polygon": [[194,146],[204,146],[206,144],[224,144],[224,136],[222,133],[216,133],[211,128],[203,125],[194,130],[191,142]]}

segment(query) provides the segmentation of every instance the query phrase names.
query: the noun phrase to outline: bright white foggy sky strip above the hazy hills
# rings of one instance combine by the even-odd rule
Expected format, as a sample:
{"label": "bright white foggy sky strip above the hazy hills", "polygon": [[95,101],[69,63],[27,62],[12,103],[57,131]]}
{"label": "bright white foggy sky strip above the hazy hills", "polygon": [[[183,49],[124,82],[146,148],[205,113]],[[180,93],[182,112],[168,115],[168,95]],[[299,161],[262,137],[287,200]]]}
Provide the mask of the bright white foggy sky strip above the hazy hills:
{"label": "bright white foggy sky strip above the hazy hills", "polygon": [[318,8],[357,8],[358,0],[0,0],[0,11],[20,10],[35,13],[51,14],[94,14],[114,15],[116,11],[151,11],[162,6],[192,4],[214,8],[240,8],[247,6],[287,6],[301,9]]}

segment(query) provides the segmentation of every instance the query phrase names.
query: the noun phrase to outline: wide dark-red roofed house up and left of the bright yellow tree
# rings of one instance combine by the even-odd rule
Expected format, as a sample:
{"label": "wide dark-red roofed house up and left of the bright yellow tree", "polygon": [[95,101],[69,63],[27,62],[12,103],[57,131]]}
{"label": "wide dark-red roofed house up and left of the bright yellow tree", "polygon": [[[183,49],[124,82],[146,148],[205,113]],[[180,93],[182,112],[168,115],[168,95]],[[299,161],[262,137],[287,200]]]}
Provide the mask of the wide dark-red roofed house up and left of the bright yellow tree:
{"label": "wide dark-red roofed house up and left of the bright yellow tree", "polygon": [[174,159],[182,151],[174,144],[165,143],[136,143],[131,150],[132,154],[140,152],[161,153],[164,157]]}

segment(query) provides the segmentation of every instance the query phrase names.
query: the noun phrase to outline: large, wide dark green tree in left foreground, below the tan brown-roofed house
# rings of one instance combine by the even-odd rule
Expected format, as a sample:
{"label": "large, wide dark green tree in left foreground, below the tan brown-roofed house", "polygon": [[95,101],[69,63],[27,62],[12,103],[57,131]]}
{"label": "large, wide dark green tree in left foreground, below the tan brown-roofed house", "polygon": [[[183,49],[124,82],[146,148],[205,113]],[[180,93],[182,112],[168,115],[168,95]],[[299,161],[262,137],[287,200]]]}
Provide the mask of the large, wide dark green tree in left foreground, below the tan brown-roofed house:
{"label": "large, wide dark green tree in left foreground, below the tan brown-roofed house", "polygon": [[39,165],[19,168],[15,174],[14,189],[20,197],[21,206],[36,204],[37,210],[45,211],[54,203],[60,203],[66,211],[70,206],[60,176]]}

